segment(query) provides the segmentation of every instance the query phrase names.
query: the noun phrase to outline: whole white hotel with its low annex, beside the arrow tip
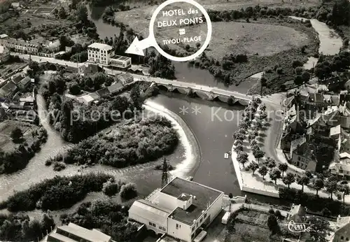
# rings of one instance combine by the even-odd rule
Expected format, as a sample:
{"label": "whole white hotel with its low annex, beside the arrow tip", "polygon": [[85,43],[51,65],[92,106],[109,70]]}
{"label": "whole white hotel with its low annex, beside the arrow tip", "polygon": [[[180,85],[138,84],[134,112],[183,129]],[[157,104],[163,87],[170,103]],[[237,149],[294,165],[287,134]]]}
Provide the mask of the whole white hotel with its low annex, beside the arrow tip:
{"label": "whole white hotel with its low annex, beside the arrow tip", "polygon": [[87,61],[120,69],[127,69],[132,64],[130,57],[114,55],[113,47],[104,43],[92,43],[87,46]]}

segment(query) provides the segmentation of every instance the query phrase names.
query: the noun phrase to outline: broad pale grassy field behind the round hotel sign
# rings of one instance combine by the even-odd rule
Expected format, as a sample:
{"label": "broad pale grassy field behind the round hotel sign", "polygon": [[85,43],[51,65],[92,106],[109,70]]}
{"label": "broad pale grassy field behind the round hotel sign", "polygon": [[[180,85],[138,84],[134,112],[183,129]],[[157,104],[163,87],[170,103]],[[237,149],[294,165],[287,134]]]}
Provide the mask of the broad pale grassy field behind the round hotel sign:
{"label": "broad pale grassy field behind the round hotel sign", "polygon": [[[149,7],[155,8],[155,7]],[[125,22],[137,32],[148,28],[150,15],[145,8],[134,9],[116,14],[116,19]],[[159,18],[167,20],[167,18]],[[178,21],[179,23],[179,21]],[[158,43],[169,38],[179,37],[179,26],[158,28],[155,26],[155,37]],[[185,27],[186,36],[202,36],[204,43],[207,37],[207,24],[197,24],[193,27]],[[207,49],[207,55],[215,59],[221,59],[226,54],[247,54],[247,55],[274,55],[283,50],[300,47],[309,44],[306,34],[290,27],[279,26],[276,21],[268,23],[266,20],[254,22],[213,22],[213,33]],[[195,48],[196,42],[189,43]],[[185,43],[170,44],[169,47],[183,50]]]}

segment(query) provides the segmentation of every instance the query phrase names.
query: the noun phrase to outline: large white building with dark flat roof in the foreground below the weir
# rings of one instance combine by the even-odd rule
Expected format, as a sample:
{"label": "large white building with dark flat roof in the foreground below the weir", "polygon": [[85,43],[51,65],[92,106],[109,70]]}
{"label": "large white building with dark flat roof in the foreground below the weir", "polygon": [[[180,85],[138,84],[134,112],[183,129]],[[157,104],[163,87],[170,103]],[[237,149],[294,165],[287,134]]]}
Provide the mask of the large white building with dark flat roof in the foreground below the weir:
{"label": "large white building with dark flat roof in the foreground below the weir", "polygon": [[134,201],[129,220],[144,224],[156,234],[192,242],[222,211],[223,194],[190,180],[174,178],[148,198]]}

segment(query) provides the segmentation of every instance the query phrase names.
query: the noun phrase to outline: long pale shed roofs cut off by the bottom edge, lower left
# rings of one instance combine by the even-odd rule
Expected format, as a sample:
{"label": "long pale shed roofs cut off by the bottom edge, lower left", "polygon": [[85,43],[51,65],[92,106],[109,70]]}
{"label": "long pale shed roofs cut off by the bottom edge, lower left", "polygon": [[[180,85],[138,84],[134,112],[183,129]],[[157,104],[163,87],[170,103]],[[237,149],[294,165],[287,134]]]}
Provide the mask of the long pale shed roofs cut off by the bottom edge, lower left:
{"label": "long pale shed roofs cut off by the bottom edge, lower left", "polygon": [[85,229],[78,225],[73,224],[72,222],[69,225],[62,225],[54,229],[46,241],[55,241],[55,242],[111,242],[111,236],[100,232],[97,229]]}

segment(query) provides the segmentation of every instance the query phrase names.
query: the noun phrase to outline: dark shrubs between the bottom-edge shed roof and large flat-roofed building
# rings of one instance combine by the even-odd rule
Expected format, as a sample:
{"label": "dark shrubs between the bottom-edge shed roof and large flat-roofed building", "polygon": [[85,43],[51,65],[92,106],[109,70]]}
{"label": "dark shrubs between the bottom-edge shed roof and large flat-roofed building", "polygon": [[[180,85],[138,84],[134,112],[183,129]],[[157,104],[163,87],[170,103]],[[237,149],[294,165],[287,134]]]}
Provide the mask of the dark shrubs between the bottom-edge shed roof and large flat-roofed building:
{"label": "dark shrubs between the bottom-edge shed roof and large flat-roofed building", "polygon": [[111,201],[93,201],[81,204],[75,213],[62,215],[62,224],[73,222],[86,229],[100,229],[114,241],[137,241],[137,227],[127,223],[129,207]]}

